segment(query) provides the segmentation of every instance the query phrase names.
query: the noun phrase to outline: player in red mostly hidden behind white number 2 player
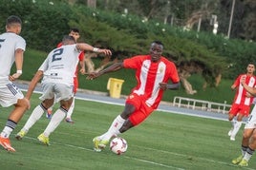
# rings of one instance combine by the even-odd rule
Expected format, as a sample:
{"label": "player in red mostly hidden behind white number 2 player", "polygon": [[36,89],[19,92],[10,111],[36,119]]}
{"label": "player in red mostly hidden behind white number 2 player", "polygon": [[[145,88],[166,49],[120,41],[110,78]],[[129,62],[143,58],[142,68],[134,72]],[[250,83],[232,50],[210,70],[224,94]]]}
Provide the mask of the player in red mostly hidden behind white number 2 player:
{"label": "player in red mostly hidden behind white number 2 player", "polygon": [[[75,42],[77,43],[77,40],[80,38],[80,34],[79,34],[79,29],[78,28],[71,28],[70,30],[70,33],[69,33],[70,36],[73,36],[75,38]],[[57,47],[61,47],[62,46],[62,43],[59,43],[57,45]],[[85,64],[84,64],[84,51],[81,51],[80,54],[79,54],[79,65],[80,65],[80,70],[79,72],[81,74],[84,74],[85,73]],[[74,121],[72,120],[71,116],[73,114],[73,111],[74,111],[74,107],[75,107],[75,93],[77,91],[77,88],[78,88],[78,66],[77,68],[75,69],[75,77],[74,77],[74,97],[73,97],[73,103],[71,104],[71,107],[67,113],[67,116],[66,116],[66,122],[67,123],[74,123]],[[47,110],[47,118],[51,118],[52,117],[52,112],[53,112],[53,106],[51,106],[48,110]]]}

